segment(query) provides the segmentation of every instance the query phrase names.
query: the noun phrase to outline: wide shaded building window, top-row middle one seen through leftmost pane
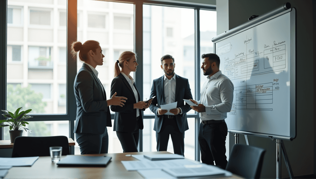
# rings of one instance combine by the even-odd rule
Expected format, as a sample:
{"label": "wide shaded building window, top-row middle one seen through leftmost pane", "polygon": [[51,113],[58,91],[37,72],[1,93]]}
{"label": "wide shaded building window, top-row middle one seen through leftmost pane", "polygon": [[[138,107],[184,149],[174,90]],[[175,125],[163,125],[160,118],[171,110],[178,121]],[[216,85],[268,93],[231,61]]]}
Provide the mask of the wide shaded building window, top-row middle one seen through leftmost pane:
{"label": "wide shaded building window, top-row middle one seen through leftmost pane", "polygon": [[30,10],[30,24],[51,25],[51,11]]}

